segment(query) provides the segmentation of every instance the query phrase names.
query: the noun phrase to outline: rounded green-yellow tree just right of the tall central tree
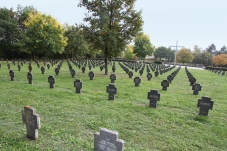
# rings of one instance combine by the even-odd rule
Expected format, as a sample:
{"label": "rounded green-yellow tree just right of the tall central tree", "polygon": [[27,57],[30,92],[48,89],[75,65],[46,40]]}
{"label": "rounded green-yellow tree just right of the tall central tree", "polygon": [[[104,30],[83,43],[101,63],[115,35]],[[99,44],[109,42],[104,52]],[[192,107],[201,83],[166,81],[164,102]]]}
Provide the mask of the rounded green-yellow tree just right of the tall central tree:
{"label": "rounded green-yellow tree just right of the tall central tree", "polygon": [[147,55],[152,55],[154,47],[150,43],[150,38],[144,33],[140,33],[135,38],[134,53],[139,58],[145,58]]}

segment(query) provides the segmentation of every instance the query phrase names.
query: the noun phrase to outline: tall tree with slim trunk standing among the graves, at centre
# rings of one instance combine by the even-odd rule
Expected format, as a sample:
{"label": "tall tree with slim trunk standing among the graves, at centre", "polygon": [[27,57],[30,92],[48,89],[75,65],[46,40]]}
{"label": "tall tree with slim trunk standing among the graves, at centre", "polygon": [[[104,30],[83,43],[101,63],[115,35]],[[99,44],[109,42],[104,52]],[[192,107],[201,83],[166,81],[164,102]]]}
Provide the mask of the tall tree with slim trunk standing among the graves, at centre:
{"label": "tall tree with slim trunk standing among the graves, at centre", "polygon": [[108,58],[118,56],[127,44],[141,31],[141,11],[134,10],[136,0],[81,0],[79,7],[88,10],[82,25],[90,43],[102,50],[105,57],[105,74]]}

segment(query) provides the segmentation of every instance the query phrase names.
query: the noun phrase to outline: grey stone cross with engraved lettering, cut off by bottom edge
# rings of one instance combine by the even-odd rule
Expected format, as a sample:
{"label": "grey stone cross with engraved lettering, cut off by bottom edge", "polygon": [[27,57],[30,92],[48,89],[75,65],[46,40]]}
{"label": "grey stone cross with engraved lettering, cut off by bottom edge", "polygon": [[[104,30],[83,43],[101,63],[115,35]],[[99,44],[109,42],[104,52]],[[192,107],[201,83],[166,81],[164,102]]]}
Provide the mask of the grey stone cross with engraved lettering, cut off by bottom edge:
{"label": "grey stone cross with engraved lettering, cut off by bottom edge", "polygon": [[124,140],[118,139],[118,132],[101,128],[94,134],[95,151],[123,151]]}

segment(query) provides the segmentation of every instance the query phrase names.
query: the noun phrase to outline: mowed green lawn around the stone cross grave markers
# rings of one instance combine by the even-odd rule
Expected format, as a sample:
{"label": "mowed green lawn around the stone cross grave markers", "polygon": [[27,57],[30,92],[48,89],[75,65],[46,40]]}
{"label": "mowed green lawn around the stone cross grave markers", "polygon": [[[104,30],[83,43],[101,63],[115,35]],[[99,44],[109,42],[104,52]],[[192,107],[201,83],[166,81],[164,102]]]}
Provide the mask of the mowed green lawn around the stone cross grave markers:
{"label": "mowed green lawn around the stone cross grave markers", "polygon": [[[227,150],[227,76],[189,69],[202,85],[199,95],[193,95],[184,68],[163,91],[161,81],[177,68],[151,81],[144,72],[140,86],[135,87],[133,79],[116,63],[118,92],[115,100],[109,101],[106,86],[110,83],[111,66],[108,76],[99,67],[92,69],[95,78],[91,81],[88,68],[82,73],[71,63],[76,78],[83,81],[82,94],[76,94],[73,87],[76,78],[71,77],[66,61],[58,76],[54,73],[57,65],[41,74],[33,62],[32,85],[26,78],[28,63],[18,71],[10,62],[15,81],[10,81],[6,62],[1,64],[0,150],[92,151],[94,133],[100,128],[118,131],[126,151]],[[55,75],[54,89],[49,88],[49,75]],[[135,76],[139,72],[134,72]],[[147,93],[152,89],[161,94],[156,109],[148,107]],[[202,96],[214,101],[207,117],[198,116],[197,101]],[[41,118],[36,141],[26,138],[21,117],[26,105],[36,108]]]}

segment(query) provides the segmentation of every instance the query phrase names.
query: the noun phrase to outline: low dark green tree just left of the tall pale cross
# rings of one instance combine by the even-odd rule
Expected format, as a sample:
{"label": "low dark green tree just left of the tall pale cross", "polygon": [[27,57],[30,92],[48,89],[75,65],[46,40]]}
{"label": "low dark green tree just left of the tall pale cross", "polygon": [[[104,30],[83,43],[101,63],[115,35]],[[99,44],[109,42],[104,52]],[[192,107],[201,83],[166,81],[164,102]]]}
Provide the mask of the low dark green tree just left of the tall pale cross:
{"label": "low dark green tree just left of the tall pale cross", "polygon": [[159,58],[160,60],[163,58],[168,61],[173,61],[175,58],[175,55],[174,55],[174,51],[171,50],[171,48],[166,48],[161,46],[155,50],[154,57]]}

